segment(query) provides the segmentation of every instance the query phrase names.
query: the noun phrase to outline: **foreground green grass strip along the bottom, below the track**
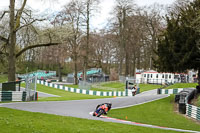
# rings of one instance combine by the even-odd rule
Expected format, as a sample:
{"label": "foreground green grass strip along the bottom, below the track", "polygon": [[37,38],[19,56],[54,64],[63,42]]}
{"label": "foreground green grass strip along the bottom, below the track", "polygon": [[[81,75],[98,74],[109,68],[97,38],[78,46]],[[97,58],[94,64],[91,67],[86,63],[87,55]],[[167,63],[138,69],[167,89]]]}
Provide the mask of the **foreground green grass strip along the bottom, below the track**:
{"label": "foreground green grass strip along the bottom, below the track", "polygon": [[178,133],[132,125],[0,108],[1,133]]}

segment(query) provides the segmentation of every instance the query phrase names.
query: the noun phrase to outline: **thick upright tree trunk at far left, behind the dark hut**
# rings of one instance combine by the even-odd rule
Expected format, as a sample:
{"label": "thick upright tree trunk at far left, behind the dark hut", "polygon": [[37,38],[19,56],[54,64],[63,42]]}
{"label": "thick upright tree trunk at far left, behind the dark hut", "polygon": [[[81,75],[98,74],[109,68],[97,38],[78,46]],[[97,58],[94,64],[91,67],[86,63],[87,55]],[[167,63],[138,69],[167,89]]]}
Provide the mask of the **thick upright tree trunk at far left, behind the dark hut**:
{"label": "thick upright tree trunk at far left, behind the dark hut", "polygon": [[16,32],[15,32],[15,0],[10,0],[10,40],[8,44],[8,81],[15,81],[15,44],[16,44]]}

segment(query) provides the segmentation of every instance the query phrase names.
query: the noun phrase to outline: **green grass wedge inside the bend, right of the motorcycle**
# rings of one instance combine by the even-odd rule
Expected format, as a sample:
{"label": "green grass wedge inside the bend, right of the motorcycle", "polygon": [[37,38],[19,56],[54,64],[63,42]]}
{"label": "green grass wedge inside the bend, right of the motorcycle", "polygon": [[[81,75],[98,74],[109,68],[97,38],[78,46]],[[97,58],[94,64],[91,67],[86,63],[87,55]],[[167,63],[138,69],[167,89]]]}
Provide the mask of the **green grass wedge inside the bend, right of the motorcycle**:
{"label": "green grass wedge inside the bend, right of the motorcycle", "polygon": [[109,112],[110,117],[157,126],[200,131],[200,124],[177,114],[173,109],[174,95],[170,97]]}

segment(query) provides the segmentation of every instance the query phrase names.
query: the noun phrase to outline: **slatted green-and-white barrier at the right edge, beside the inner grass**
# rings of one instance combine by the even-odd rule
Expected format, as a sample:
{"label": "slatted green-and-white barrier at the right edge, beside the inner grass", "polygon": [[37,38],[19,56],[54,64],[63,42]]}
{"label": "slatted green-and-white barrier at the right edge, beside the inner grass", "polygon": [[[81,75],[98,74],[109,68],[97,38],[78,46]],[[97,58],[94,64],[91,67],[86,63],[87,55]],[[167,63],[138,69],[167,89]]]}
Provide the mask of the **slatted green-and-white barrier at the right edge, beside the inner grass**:
{"label": "slatted green-and-white barrier at the right edge, beside the inner grass", "polygon": [[186,104],[186,115],[200,121],[200,108]]}

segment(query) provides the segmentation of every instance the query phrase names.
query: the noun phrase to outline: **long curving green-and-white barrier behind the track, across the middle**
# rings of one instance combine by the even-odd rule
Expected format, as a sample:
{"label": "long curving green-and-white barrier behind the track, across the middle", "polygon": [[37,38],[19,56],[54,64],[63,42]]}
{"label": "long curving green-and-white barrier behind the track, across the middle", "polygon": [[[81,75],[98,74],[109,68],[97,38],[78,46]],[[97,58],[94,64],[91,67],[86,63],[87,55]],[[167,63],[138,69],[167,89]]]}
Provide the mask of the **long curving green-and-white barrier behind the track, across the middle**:
{"label": "long curving green-and-white barrier behind the track, across the middle", "polygon": [[80,93],[80,94],[87,94],[87,95],[95,95],[95,96],[132,96],[131,90],[126,91],[110,91],[110,92],[103,92],[103,91],[93,91],[93,90],[84,90],[84,89],[78,89],[78,88],[70,88],[63,85],[57,85],[53,83],[48,83],[45,81],[37,80],[38,84],[42,84],[48,87],[62,89],[68,92],[74,92],[74,93]]}

